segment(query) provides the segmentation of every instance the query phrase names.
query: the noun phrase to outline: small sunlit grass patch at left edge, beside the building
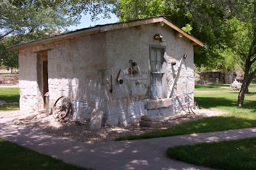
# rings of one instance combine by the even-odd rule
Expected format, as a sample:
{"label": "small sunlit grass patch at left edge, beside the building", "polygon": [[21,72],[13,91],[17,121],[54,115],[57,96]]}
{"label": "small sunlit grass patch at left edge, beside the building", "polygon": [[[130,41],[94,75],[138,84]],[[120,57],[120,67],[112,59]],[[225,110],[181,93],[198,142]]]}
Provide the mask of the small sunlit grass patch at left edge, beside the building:
{"label": "small sunlit grass patch at left edge, beside the building", "polygon": [[0,100],[4,100],[4,104],[0,105],[0,111],[19,110],[19,88],[0,88]]}

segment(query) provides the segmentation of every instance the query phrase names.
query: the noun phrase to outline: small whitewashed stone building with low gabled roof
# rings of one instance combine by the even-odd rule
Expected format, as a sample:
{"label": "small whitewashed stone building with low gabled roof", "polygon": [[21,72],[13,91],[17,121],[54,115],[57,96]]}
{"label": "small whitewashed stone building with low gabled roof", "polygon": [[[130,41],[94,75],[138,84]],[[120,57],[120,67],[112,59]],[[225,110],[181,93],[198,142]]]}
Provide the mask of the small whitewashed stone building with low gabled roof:
{"label": "small whitewashed stone building with low gabled roof", "polygon": [[[102,125],[170,116],[173,95],[193,97],[193,48],[204,44],[164,17],[71,31],[8,50],[19,50],[20,110],[72,101],[74,119],[104,113]],[[177,63],[177,64],[175,64]],[[179,69],[178,69],[179,68]],[[176,77],[176,79],[175,79]]]}

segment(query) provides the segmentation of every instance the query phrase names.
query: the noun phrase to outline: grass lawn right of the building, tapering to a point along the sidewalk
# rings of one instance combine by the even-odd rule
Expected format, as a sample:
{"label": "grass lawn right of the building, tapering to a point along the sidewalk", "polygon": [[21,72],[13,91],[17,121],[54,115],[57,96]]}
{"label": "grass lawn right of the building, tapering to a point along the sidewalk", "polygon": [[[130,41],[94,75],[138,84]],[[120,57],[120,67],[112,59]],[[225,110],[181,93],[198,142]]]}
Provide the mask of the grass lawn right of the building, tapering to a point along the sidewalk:
{"label": "grass lawn right of the building, tapering to a point along the sidewalk", "polygon": [[227,111],[229,114],[190,121],[165,130],[120,137],[116,141],[256,127],[256,85],[252,84],[249,87],[249,91],[250,93],[246,94],[244,106],[237,107],[238,91],[230,91],[230,89],[218,87],[196,86],[195,100],[201,109],[218,109]]}

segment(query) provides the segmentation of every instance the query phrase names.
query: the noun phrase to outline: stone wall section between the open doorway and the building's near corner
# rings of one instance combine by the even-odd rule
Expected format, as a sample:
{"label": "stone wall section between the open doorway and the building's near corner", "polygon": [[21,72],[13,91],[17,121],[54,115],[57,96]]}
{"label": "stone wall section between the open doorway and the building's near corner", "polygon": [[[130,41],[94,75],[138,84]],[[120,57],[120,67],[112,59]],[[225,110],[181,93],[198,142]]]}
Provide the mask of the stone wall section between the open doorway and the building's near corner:
{"label": "stone wall section between the open doorway and the building's near corner", "polygon": [[51,104],[65,95],[72,101],[74,119],[90,119],[93,109],[101,108],[108,96],[106,35],[86,35],[53,45],[48,55]]}

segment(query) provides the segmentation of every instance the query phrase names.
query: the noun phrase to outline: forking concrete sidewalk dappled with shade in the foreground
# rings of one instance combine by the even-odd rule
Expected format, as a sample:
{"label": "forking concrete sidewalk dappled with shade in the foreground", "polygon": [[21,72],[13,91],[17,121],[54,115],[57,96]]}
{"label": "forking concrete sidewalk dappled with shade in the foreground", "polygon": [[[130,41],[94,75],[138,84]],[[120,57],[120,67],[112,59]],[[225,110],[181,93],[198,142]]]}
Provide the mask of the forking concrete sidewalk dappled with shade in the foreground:
{"label": "forking concrete sidewalk dappled with shade in the foreground", "polygon": [[14,125],[0,120],[0,137],[51,155],[64,162],[93,169],[207,169],[166,157],[166,149],[180,144],[207,143],[256,137],[256,128],[179,135],[138,141],[88,144]]}

